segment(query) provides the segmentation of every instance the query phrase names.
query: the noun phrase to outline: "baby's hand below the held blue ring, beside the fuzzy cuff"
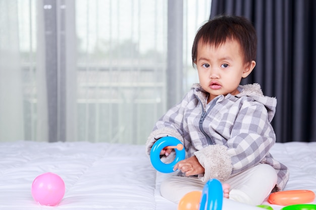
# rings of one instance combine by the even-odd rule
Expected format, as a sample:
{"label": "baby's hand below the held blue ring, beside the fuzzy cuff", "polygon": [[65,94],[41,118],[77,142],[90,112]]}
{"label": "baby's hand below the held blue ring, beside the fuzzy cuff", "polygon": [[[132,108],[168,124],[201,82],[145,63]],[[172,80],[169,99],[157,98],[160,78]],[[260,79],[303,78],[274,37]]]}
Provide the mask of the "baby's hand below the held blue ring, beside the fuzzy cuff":
{"label": "baby's hand below the held blue ring, beside the fuzzy cuff", "polygon": [[193,176],[204,173],[203,166],[201,166],[195,156],[187,158],[183,161],[179,161],[173,168],[174,171],[177,169],[185,173],[186,176]]}

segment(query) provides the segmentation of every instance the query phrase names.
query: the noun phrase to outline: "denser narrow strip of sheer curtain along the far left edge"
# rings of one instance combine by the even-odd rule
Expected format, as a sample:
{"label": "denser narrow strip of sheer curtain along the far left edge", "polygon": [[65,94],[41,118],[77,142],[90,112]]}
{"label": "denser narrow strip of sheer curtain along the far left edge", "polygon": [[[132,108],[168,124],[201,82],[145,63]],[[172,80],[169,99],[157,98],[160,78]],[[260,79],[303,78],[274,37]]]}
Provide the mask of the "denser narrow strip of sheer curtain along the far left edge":
{"label": "denser narrow strip of sheer curtain along the far left edge", "polygon": [[0,1],[0,139],[23,139],[18,6]]}

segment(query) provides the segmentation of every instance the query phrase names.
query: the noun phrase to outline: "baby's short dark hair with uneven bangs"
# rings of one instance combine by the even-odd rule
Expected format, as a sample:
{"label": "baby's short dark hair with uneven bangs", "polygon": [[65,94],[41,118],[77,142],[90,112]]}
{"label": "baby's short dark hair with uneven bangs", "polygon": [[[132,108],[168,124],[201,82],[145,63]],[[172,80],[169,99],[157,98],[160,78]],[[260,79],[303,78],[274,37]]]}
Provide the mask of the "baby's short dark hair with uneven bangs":
{"label": "baby's short dark hair with uneven bangs", "polygon": [[251,22],[240,16],[222,15],[209,20],[198,29],[192,46],[193,66],[195,66],[199,43],[218,47],[227,40],[235,40],[239,43],[245,63],[255,60],[257,36]]}

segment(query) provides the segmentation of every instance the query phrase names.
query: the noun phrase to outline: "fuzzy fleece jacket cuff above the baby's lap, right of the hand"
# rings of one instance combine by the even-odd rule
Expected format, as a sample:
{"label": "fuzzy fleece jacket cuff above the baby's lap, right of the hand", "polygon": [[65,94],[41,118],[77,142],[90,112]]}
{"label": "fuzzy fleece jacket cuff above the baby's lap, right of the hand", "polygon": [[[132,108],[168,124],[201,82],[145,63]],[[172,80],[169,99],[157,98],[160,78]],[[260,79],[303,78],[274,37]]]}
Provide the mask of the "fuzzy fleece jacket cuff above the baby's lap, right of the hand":
{"label": "fuzzy fleece jacket cuff above the baby's lap, right of the hand", "polygon": [[194,153],[198,162],[204,167],[204,175],[199,175],[201,181],[209,179],[227,180],[232,173],[232,161],[224,145],[209,145]]}

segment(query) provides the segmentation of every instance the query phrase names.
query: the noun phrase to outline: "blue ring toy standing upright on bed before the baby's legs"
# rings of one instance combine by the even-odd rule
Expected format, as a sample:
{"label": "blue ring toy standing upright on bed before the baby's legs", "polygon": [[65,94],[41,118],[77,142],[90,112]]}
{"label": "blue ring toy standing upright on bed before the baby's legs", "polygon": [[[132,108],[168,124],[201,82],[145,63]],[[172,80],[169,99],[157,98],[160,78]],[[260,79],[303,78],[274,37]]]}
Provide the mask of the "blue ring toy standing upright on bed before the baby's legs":
{"label": "blue ring toy standing upright on bed before the baby's legs", "polygon": [[210,179],[202,190],[199,210],[222,210],[223,187],[219,180]]}

